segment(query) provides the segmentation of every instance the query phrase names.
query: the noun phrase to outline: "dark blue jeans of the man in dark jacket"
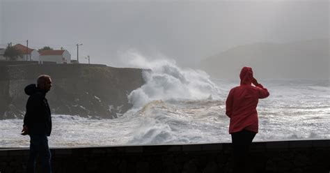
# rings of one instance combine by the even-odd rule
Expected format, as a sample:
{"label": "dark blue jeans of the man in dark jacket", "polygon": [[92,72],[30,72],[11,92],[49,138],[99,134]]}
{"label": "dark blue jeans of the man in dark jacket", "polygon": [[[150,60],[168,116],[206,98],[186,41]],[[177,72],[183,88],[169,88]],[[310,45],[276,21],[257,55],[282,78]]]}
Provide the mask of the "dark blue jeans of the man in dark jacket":
{"label": "dark blue jeans of the man in dark jacket", "polygon": [[30,139],[30,156],[27,165],[27,172],[36,172],[36,160],[39,156],[42,163],[42,172],[51,173],[51,153],[48,146],[47,135],[30,135]]}

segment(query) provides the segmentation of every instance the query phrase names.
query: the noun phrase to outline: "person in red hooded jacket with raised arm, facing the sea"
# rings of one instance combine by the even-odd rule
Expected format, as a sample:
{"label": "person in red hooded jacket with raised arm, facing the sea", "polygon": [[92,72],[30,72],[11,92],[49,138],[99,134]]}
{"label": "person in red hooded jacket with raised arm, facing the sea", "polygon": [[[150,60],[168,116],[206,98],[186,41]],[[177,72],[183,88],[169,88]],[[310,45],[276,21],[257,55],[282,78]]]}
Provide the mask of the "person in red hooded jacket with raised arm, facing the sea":
{"label": "person in red hooded jacket with raised arm, facing the sea", "polygon": [[267,98],[269,92],[258,84],[251,67],[242,68],[239,78],[240,85],[230,89],[228,94],[226,115],[230,118],[229,133],[234,147],[234,172],[246,172],[246,157],[252,140],[258,133],[258,100]]}

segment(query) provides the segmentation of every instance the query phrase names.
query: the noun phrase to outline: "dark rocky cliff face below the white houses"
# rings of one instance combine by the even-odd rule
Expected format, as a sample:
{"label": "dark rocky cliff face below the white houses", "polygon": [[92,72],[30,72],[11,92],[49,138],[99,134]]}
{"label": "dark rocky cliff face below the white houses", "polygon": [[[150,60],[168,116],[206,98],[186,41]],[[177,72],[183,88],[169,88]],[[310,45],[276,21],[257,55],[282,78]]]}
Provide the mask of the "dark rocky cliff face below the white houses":
{"label": "dark rocky cliff face below the white houses", "polygon": [[24,87],[42,74],[53,80],[47,93],[52,114],[116,118],[132,107],[127,95],[144,84],[142,69],[104,65],[0,66],[0,73],[0,119],[24,116]]}

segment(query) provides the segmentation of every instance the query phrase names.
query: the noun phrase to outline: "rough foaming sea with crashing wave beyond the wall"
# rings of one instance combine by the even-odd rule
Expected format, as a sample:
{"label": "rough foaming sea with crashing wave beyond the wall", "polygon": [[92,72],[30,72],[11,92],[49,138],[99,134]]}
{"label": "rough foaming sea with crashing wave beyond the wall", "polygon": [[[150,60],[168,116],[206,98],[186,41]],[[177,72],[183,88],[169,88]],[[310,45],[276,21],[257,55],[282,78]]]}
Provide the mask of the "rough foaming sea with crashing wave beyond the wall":
{"label": "rough foaming sea with crashing wave beyond the wall", "polygon": [[[231,142],[225,101],[238,79],[211,79],[173,61],[130,57],[130,66],[152,69],[143,73],[146,84],[128,96],[134,107],[118,119],[53,115],[51,147]],[[329,80],[259,82],[270,96],[259,100],[254,141],[330,139]],[[22,119],[1,120],[0,147],[28,147],[20,130]]]}

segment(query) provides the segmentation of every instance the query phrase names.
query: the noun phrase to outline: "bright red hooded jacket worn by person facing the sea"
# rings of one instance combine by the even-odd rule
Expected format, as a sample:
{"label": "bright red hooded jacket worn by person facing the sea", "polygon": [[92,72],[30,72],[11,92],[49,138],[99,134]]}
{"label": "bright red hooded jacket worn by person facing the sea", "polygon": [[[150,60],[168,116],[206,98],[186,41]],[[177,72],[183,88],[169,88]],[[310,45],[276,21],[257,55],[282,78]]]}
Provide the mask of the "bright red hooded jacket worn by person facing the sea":
{"label": "bright red hooded jacket worn by person facing the sea", "polygon": [[258,100],[267,98],[269,92],[261,84],[256,84],[256,87],[251,85],[254,80],[252,68],[242,68],[239,77],[240,86],[230,89],[226,100],[226,115],[230,118],[229,133],[243,129],[258,133]]}

